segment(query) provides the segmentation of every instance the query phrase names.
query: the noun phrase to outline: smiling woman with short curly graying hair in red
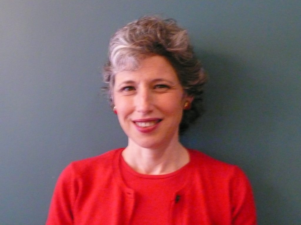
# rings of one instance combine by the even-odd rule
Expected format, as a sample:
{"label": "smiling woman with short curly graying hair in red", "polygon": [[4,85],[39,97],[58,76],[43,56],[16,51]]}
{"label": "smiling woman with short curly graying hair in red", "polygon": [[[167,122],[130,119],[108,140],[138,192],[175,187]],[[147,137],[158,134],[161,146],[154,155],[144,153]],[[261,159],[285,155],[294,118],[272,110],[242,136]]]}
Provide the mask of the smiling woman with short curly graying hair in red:
{"label": "smiling woman with short curly graying hair in red", "polygon": [[145,16],[109,47],[104,80],[128,146],[71,163],[46,224],[256,224],[244,173],[179,142],[206,81],[187,32]]}

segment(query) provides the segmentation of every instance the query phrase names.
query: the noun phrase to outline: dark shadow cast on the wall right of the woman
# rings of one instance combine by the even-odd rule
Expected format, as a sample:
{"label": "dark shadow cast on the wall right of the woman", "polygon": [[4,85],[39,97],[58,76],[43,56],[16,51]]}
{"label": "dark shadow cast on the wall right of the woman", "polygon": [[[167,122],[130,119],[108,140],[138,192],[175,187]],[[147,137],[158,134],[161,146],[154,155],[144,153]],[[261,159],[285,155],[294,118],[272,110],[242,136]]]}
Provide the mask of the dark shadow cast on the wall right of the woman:
{"label": "dark shadow cast on the wall right of the woman", "polygon": [[297,218],[298,210],[293,208],[296,203],[285,197],[284,185],[267,179],[277,173],[271,166],[275,163],[271,155],[278,151],[281,157],[284,151],[269,143],[281,107],[277,97],[281,88],[270,82],[273,72],[240,58],[196,52],[209,75],[204,95],[206,112],[181,137],[182,143],[237,164],[246,172],[253,186],[259,224],[288,224],[288,214]]}

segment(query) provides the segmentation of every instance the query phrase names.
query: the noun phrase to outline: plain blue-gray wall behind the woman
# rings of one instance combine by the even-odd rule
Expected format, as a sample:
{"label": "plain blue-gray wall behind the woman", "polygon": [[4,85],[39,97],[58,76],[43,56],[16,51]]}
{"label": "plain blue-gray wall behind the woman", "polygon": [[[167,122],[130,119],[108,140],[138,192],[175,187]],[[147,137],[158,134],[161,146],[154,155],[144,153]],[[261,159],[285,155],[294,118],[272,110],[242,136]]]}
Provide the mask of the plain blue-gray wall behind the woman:
{"label": "plain blue-gray wall behind the woman", "polygon": [[259,224],[300,224],[299,1],[0,1],[0,224],[43,224],[73,160],[126,146],[101,94],[110,35],[146,13],[188,29],[210,75],[181,139],[239,165]]}

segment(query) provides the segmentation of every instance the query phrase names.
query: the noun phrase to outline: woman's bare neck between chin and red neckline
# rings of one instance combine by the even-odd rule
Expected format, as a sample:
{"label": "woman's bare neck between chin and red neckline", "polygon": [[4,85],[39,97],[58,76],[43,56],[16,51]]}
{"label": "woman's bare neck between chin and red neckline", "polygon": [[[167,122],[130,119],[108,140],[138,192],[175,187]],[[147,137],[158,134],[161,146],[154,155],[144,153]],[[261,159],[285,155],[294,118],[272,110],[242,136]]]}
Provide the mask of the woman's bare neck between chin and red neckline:
{"label": "woman's bare neck between chin and red neckline", "polygon": [[133,170],[149,175],[172,173],[189,162],[189,154],[179,141],[159,148],[143,148],[129,139],[122,156]]}

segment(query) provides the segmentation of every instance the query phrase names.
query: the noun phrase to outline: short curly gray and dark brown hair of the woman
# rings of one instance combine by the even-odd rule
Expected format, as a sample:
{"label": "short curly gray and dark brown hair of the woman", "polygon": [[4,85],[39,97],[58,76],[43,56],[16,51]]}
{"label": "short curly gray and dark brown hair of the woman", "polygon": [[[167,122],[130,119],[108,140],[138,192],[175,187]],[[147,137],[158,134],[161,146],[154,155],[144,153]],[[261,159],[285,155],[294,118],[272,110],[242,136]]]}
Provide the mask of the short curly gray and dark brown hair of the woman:
{"label": "short curly gray and dark brown hair of the woman", "polygon": [[202,93],[207,75],[194,55],[187,31],[174,19],[143,16],[119,29],[110,39],[104,82],[113,107],[114,76],[124,70],[136,70],[141,60],[151,55],[164,56],[174,67],[188,96],[194,98],[190,110],[184,110],[179,133],[203,114]]}

